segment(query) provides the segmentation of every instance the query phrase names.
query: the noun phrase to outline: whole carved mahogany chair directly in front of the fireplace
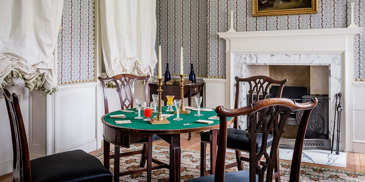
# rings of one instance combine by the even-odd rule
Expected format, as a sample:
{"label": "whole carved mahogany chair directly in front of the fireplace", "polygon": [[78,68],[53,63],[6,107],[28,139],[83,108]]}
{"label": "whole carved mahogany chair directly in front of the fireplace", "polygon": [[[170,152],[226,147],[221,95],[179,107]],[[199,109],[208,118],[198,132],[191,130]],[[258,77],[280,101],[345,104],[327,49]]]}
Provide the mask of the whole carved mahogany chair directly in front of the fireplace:
{"label": "whole carved mahogany chair directly in front of the fireplace", "polygon": [[[252,76],[249,78],[238,78],[235,77],[236,80],[236,95],[235,95],[235,103],[234,108],[238,108],[238,103],[240,99],[239,95],[239,86],[241,82],[246,82],[249,85],[249,103],[253,103],[254,101],[258,101],[260,99],[266,99],[266,96],[269,94],[269,88],[272,84],[279,84],[280,87],[278,89],[277,98],[281,98],[281,93],[283,92],[283,88],[285,83],[288,82],[288,79],[284,80],[274,80],[268,76]],[[262,94],[262,95],[260,95]],[[254,100],[255,96],[255,100]],[[243,98],[246,97],[246,94],[241,96]],[[249,152],[250,148],[248,147],[249,139],[246,136],[247,130],[241,130],[238,126],[238,117],[234,118],[234,124],[233,128],[228,128],[227,131],[227,149],[235,150],[236,153],[236,159],[237,162],[228,164],[226,168],[231,168],[234,166],[238,167],[238,170],[243,170],[243,164],[242,161],[248,162],[249,158],[241,156],[241,151],[243,152]],[[200,134],[200,157],[201,157],[201,166],[200,167],[200,176],[204,176],[206,174],[214,174],[214,165],[211,163],[210,170],[206,170],[206,164],[205,164],[205,158],[206,158],[206,148],[207,143],[211,143],[211,132],[205,131]],[[238,137],[239,136],[239,137]],[[262,134],[259,133],[259,137],[261,137]],[[272,142],[272,135],[269,135],[268,139],[268,145],[270,146],[270,143]],[[258,152],[261,148],[260,143],[257,143],[258,149],[256,152]],[[215,147],[210,145],[210,151],[214,151]],[[279,153],[277,153],[278,155]],[[212,156],[212,155],[211,155]],[[277,157],[278,158],[278,157]],[[212,159],[211,159],[212,161]],[[280,168],[279,168],[279,161],[276,162],[277,166],[275,167],[276,174],[274,175],[274,178],[276,178],[276,181],[280,181]]]}

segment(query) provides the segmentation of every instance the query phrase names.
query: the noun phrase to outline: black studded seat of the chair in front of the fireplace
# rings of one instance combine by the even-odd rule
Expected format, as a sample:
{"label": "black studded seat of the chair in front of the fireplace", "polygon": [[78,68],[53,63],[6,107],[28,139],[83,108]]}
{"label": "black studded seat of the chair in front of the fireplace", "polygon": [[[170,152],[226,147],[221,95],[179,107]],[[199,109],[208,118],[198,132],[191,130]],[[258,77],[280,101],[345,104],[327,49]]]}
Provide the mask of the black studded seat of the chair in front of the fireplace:
{"label": "black studded seat of the chair in front of the fireplace", "polygon": [[[235,128],[228,128],[227,129],[227,148],[233,149],[233,150],[239,150],[243,152],[249,152],[250,146],[249,146],[249,139],[247,138],[247,131],[246,130],[240,130]],[[217,137],[219,135],[219,130],[217,133]],[[200,134],[200,140],[205,143],[210,143],[210,131],[205,131]],[[258,151],[261,149],[261,141],[262,141],[262,133],[259,133],[257,135],[256,140],[256,147]],[[270,147],[271,143],[273,141],[273,135],[268,136],[268,143],[267,146]]]}

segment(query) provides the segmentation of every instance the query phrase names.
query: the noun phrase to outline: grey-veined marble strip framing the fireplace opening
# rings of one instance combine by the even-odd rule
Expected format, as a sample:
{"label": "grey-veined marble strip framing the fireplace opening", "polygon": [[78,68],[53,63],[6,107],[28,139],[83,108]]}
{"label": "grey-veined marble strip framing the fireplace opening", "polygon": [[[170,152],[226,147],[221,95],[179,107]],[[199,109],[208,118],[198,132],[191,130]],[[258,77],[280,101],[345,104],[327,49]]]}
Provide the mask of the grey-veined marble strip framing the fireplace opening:
{"label": "grey-veined marble strip framing the fireplace opening", "polygon": [[[239,78],[248,78],[254,76],[251,74],[249,65],[327,65],[330,69],[328,95],[330,97],[329,105],[329,136],[333,132],[333,119],[335,108],[335,95],[341,92],[341,54],[270,54],[270,55],[235,55],[234,58],[234,76]],[[288,78],[290,79],[290,78]],[[326,79],[326,78],[322,78]],[[241,94],[239,107],[247,105],[247,100],[244,95],[248,93],[245,83],[241,83]],[[244,118],[240,119],[241,128],[245,129],[247,124]],[[336,140],[335,140],[336,141]],[[341,142],[341,136],[340,136]]]}

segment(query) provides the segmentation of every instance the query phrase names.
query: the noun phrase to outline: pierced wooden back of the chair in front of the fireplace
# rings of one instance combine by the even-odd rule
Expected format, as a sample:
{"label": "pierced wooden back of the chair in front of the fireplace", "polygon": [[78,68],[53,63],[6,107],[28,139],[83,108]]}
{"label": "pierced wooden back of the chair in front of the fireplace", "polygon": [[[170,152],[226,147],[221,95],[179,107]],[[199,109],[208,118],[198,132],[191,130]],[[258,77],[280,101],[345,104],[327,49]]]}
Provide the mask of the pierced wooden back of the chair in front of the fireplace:
{"label": "pierced wooden back of the chair in front of the fireplace", "polygon": [[[238,108],[239,103],[239,83],[240,82],[247,82],[249,84],[249,103],[253,103],[253,96],[256,96],[256,101],[260,100],[260,92],[262,93],[262,99],[265,99],[266,96],[269,94],[269,88],[272,84],[279,84],[279,90],[276,95],[277,98],[281,98],[281,94],[283,92],[283,88],[285,83],[288,82],[288,79],[284,80],[274,80],[268,76],[251,76],[249,78],[238,78],[236,76],[234,78],[236,80],[236,95],[234,100],[234,108]],[[254,94],[256,93],[256,94]],[[246,97],[246,95],[245,95]],[[238,118],[234,118],[233,127],[238,128]]]}

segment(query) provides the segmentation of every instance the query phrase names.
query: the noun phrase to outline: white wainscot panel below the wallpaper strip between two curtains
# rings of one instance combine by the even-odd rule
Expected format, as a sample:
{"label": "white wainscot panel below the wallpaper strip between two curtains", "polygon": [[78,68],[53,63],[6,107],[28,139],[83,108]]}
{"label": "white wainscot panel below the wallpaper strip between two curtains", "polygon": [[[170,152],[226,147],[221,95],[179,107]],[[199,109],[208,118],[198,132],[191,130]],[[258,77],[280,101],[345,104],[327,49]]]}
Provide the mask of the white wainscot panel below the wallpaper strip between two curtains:
{"label": "white wainscot panel below the wallpaper strip between two curtains", "polygon": [[54,95],[55,153],[97,150],[96,83],[59,86]]}

